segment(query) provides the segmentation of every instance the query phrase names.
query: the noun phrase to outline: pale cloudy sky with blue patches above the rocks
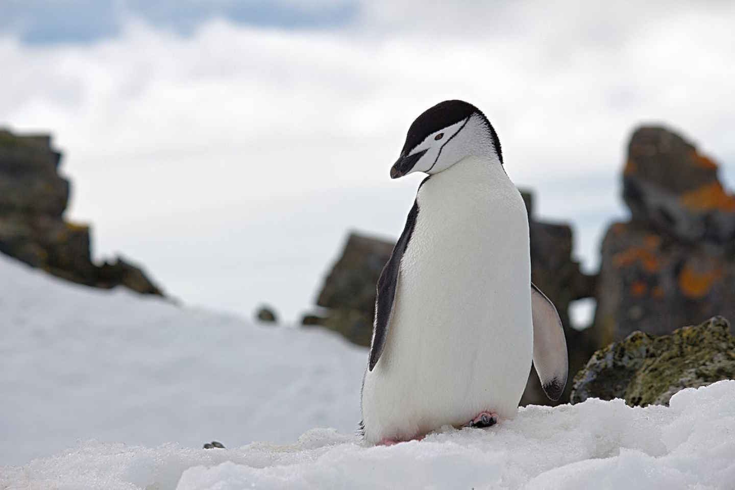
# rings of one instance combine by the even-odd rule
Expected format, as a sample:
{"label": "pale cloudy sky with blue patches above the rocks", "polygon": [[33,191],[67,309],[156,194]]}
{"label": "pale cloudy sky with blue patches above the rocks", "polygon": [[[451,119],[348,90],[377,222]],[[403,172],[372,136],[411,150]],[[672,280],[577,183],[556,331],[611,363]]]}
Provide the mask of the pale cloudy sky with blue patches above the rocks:
{"label": "pale cloudy sky with blue patches above the rocks", "polygon": [[400,234],[405,131],[462,98],[592,270],[637,124],[735,181],[735,3],[581,3],[0,0],[0,126],[54,134],[97,258],[295,319],[348,230]]}

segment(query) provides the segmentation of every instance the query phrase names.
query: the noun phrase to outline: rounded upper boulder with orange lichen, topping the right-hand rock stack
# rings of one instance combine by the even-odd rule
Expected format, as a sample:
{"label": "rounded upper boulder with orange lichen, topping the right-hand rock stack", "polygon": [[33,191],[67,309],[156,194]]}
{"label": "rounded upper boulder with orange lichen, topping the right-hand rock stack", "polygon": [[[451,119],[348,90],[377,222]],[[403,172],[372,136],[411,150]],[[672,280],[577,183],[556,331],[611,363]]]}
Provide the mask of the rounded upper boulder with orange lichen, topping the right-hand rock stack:
{"label": "rounded upper boulder with orange lichen, topping the right-hand rock stack", "polygon": [[717,164],[662,127],[634,131],[623,170],[623,198],[634,222],[684,242],[735,238],[735,196]]}

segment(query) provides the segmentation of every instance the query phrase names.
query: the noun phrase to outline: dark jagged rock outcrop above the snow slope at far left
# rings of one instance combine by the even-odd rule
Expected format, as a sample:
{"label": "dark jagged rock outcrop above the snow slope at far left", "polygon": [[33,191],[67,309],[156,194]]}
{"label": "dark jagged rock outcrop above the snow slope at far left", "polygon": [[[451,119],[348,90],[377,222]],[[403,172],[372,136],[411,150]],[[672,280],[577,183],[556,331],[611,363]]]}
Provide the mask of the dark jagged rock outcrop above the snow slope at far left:
{"label": "dark jagged rock outcrop above the snow slope at far left", "polygon": [[130,262],[92,262],[89,226],[63,216],[71,186],[58,173],[60,159],[48,135],[0,130],[0,252],[79,284],[162,295]]}

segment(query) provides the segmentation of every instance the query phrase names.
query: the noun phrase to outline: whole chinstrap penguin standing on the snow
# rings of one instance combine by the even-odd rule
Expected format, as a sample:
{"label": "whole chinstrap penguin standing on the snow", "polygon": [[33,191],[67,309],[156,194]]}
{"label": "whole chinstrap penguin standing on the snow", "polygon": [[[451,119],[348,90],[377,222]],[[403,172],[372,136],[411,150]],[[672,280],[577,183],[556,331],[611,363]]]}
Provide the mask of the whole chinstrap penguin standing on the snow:
{"label": "whole chinstrap penguin standing on the snow", "polygon": [[562,322],[531,284],[526,206],[490,121],[465,101],[427,109],[390,177],[415,172],[428,176],[377,284],[361,395],[369,444],[513,417],[531,361],[551,400],[567,382]]}

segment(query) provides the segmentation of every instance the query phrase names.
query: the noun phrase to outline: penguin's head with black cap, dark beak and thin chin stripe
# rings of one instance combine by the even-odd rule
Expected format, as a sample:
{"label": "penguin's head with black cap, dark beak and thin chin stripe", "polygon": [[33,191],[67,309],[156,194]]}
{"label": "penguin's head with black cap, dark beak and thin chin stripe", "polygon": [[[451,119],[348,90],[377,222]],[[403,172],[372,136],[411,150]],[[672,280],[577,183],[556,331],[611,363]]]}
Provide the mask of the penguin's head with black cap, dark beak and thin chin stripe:
{"label": "penguin's head with black cap, dark beak and thin chin stripe", "polygon": [[426,109],[412,123],[390,177],[440,173],[472,155],[489,156],[502,165],[498,134],[477,107],[465,101],[443,101]]}

